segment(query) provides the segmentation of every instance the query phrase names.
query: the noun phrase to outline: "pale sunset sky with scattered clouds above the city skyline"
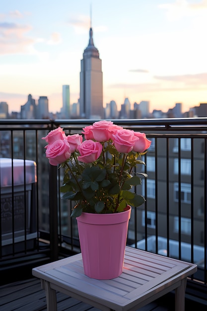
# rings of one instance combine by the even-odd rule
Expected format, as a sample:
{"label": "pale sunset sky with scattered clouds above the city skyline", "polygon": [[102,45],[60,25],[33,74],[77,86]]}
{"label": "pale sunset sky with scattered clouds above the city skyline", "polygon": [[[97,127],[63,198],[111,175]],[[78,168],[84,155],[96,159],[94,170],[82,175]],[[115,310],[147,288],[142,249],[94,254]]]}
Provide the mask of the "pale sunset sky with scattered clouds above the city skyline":
{"label": "pale sunset sky with scattered clouds above the city skyline", "polygon": [[[3,5],[2,5],[3,2]],[[20,111],[31,94],[49,111],[79,98],[89,41],[102,60],[103,105],[126,97],[166,112],[207,103],[207,0],[0,0],[0,102]]]}

